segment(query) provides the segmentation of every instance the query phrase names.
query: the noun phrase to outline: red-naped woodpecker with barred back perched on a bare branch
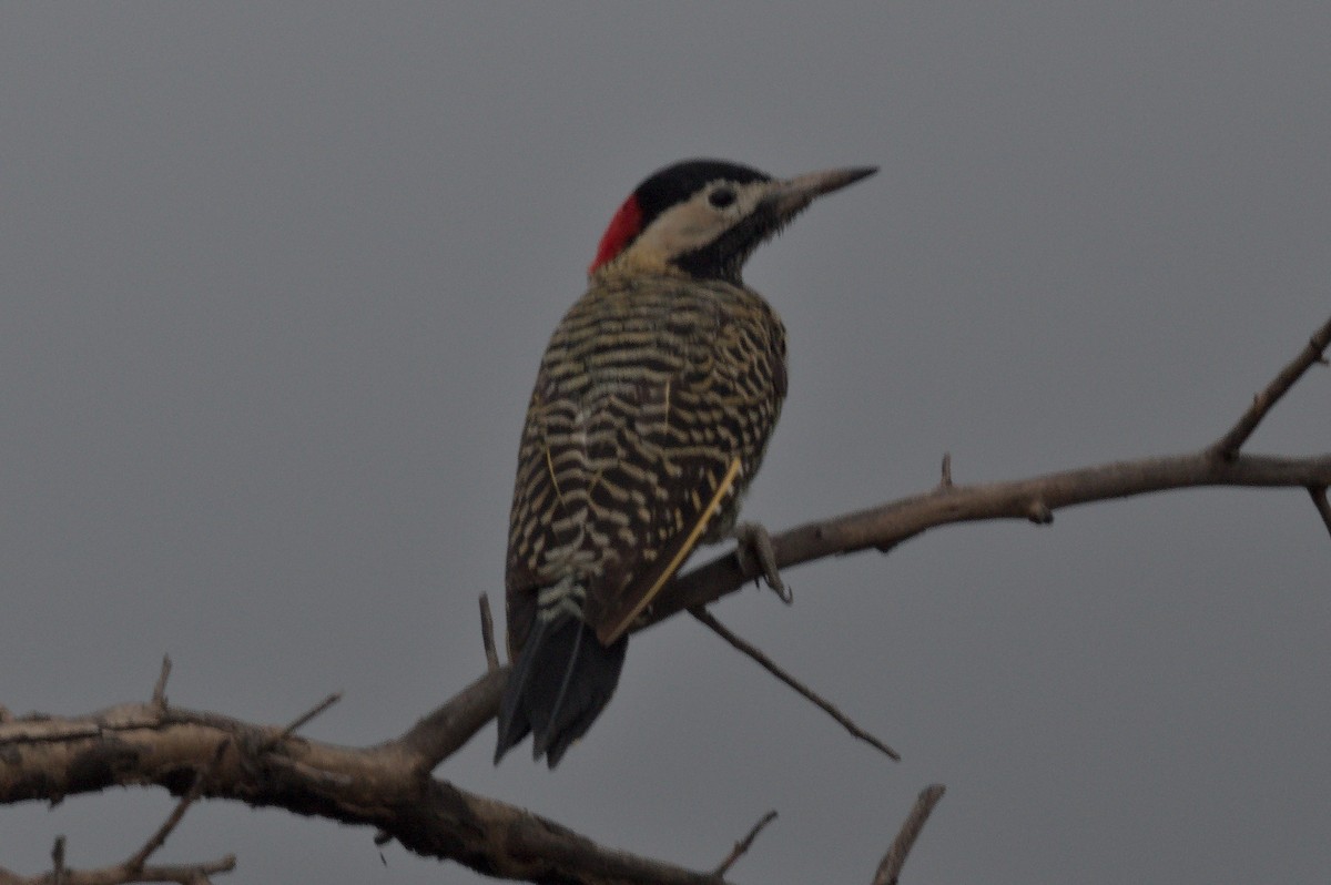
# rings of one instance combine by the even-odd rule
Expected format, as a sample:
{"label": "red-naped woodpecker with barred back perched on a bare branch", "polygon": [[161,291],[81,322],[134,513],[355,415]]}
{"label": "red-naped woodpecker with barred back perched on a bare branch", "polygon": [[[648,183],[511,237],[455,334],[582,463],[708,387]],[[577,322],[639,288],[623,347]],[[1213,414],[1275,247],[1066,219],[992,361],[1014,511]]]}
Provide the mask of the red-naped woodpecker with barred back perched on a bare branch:
{"label": "red-naped woodpecker with barred back perched on a bare branch", "polygon": [[610,701],[634,621],[735,527],[787,386],[785,329],[740,271],[816,197],[874,172],[689,160],[615,212],[522,433],[495,764],[532,732],[554,768]]}

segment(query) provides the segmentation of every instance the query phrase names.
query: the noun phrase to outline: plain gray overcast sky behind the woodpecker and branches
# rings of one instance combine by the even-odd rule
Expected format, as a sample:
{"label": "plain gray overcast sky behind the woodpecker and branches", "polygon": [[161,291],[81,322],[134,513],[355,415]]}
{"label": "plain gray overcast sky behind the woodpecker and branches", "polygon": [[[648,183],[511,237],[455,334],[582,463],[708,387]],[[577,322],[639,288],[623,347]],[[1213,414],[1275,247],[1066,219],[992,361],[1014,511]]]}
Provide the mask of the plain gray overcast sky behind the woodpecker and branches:
{"label": "plain gray overcast sky behind the woodpecker and branches", "polygon": [[[347,744],[483,667],[550,329],[647,173],[878,164],[749,265],[791,394],[747,516],[1199,447],[1331,313],[1331,5],[11,4],[0,11],[0,704],[152,688]],[[1254,450],[1326,451],[1314,373]],[[1194,491],[946,528],[634,640],[558,772],[438,775],[749,882],[1331,880],[1331,544]],[[0,865],[122,857],[157,792],[0,809]],[[236,882],[473,882],[212,804]]]}

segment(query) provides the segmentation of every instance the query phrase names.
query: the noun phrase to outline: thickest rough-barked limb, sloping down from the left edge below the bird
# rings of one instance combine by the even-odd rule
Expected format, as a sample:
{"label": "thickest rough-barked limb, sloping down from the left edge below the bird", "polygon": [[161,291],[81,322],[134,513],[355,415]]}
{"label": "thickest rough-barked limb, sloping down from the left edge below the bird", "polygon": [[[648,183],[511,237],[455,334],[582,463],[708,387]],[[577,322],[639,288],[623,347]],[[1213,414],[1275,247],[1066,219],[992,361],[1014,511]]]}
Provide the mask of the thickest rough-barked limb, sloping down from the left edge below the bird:
{"label": "thickest rough-barked limb, sloping down from the left edge below the bird", "polygon": [[[498,672],[507,675],[507,668]],[[584,885],[719,881],[711,873],[604,848],[522,808],[422,776],[402,741],[349,748],[285,739],[256,752],[246,748],[264,748],[282,729],[181,708],[158,713],[150,704],[73,720],[51,717],[44,724],[40,732],[27,721],[0,724],[5,760],[0,804],[114,785],[188,791],[194,779],[182,783],[182,767],[198,771],[214,757],[218,741],[229,740],[233,752],[205,780],[206,796],[373,826],[417,854],[454,860],[496,877]]]}

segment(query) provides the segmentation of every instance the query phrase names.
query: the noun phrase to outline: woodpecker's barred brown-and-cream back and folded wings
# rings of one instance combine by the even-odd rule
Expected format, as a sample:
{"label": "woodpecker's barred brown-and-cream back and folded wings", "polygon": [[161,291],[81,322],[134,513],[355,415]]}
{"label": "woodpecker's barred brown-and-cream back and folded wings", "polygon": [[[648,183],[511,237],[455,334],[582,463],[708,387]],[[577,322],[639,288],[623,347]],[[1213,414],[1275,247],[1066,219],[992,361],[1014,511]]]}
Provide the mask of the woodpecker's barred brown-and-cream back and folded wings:
{"label": "woodpecker's barred brown-and-cream back and folded wings", "polygon": [[784,394],[780,326],[761,311],[735,322],[687,287],[570,311],[542,365],[519,456],[511,628],[534,614],[515,619],[514,606],[532,608],[538,588],[576,574],[583,618],[614,643],[733,519]]}

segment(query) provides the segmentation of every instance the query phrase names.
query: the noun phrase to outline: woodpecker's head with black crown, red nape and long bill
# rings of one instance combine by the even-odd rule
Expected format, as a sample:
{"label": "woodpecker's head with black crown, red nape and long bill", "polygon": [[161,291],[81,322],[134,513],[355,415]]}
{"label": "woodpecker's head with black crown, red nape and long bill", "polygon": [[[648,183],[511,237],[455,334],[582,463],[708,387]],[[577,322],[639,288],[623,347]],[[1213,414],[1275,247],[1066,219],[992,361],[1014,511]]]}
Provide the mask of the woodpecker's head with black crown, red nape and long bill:
{"label": "woodpecker's head with black crown, red nape and long bill", "polygon": [[853,166],[773,178],[721,160],[666,166],[615,212],[587,273],[673,270],[739,283],[753,250],[815,197],[874,172]]}

